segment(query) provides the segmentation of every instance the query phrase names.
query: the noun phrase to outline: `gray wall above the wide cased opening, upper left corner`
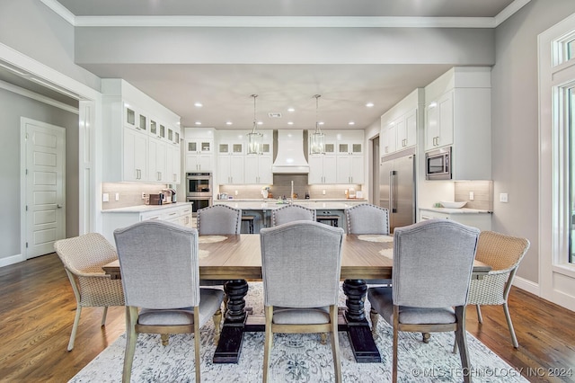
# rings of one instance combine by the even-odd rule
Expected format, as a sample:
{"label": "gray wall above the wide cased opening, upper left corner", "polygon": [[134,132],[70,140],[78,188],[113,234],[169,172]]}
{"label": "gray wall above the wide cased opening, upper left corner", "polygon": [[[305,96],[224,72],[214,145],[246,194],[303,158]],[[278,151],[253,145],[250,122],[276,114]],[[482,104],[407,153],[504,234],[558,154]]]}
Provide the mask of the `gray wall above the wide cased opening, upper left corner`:
{"label": "gray wall above the wide cased opening, upper left corner", "polygon": [[74,62],[74,27],[40,0],[0,0],[0,42],[100,90],[100,78]]}

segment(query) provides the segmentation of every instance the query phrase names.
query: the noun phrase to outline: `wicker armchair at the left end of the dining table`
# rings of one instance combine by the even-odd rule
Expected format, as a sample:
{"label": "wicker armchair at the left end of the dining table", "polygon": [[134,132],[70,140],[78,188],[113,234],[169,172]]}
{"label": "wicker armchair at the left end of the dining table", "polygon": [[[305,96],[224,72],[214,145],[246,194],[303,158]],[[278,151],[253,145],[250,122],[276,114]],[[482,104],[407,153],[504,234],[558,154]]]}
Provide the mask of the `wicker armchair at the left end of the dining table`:
{"label": "wicker armchair at the left end of the dining table", "polygon": [[102,266],[118,259],[116,249],[98,233],[60,239],[54,243],[57,256],[64,263],[64,269],[76,301],[75,319],[68,342],[68,351],[74,349],[82,307],[104,307],[102,326],[110,306],[124,306],[122,282],[111,280]]}

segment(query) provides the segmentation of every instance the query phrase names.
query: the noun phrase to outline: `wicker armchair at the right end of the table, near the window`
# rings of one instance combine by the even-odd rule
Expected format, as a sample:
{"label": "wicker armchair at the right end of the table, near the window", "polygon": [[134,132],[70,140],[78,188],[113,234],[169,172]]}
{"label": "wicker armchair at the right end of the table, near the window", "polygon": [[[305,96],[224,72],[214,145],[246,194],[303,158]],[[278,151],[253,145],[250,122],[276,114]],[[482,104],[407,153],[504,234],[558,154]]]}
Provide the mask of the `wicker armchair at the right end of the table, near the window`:
{"label": "wicker armchair at the right end of the table, near the window", "polygon": [[509,315],[508,297],[519,263],[529,249],[526,238],[506,236],[493,231],[482,231],[477,244],[475,259],[491,266],[491,272],[481,280],[471,281],[468,305],[477,307],[479,323],[483,323],[481,305],[502,305],[511,334],[513,347],[517,348],[517,336]]}

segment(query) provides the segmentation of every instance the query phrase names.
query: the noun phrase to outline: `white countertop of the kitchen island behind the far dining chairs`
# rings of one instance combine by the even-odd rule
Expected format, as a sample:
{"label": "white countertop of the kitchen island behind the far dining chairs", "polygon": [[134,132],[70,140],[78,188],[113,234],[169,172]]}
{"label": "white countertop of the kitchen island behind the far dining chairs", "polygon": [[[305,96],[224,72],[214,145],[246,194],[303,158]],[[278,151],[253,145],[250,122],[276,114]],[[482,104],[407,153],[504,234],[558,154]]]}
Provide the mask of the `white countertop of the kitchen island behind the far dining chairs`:
{"label": "white countertop of the kitchen island behind the far dining chairs", "polygon": [[[367,200],[294,200],[295,205],[309,209],[343,210]],[[215,200],[214,205],[227,205],[231,208],[246,210],[270,210],[287,206],[288,203],[278,203],[278,200]]]}

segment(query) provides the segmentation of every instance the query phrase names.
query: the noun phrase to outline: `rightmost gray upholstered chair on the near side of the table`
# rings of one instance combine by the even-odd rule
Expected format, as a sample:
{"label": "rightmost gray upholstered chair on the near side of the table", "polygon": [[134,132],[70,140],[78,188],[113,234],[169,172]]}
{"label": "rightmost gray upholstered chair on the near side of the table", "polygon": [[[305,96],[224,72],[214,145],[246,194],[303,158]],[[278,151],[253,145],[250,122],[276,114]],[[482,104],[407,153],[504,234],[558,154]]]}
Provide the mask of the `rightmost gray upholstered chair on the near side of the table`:
{"label": "rightmost gray upholstered chair on the near side of the table", "polygon": [[367,289],[374,334],[378,315],[394,327],[394,382],[399,331],[454,331],[462,368],[469,371],[465,306],[478,236],[479,229],[448,219],[395,229],[393,287]]}

